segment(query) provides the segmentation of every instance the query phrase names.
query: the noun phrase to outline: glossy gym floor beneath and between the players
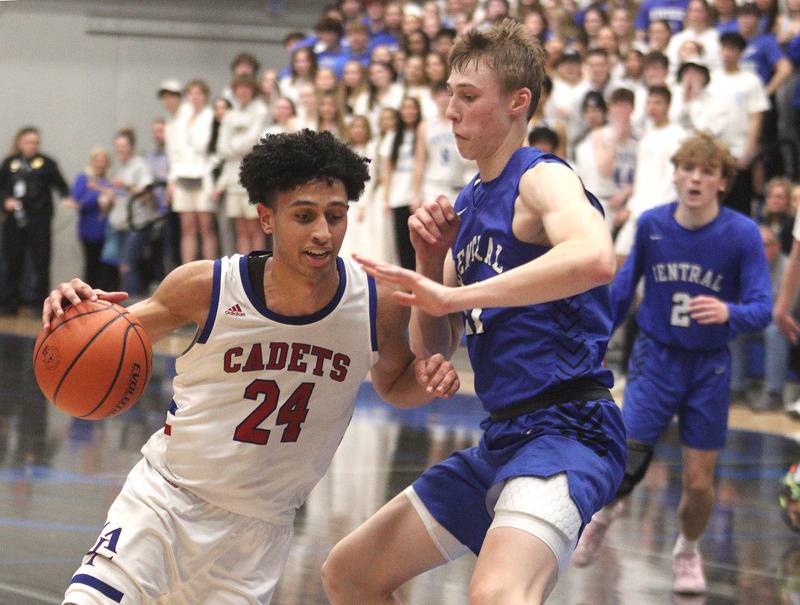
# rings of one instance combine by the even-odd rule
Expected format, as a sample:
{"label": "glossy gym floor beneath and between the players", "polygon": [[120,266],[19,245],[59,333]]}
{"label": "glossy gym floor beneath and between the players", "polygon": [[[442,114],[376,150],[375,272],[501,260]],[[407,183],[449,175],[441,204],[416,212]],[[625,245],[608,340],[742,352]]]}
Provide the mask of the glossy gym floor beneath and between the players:
{"label": "glossy gym floor beneath and between the players", "polygon": [[[33,314],[0,319],[0,605],[61,602],[140,446],[163,425],[174,356],[188,339],[159,343],[154,379],[136,407],[87,422],[62,414],[39,394],[30,361],[37,330]],[[463,358],[459,365],[466,366]],[[465,372],[462,382],[471,383]],[[368,383],[362,386],[333,464],[297,516],[275,605],[326,603],[319,570],[333,544],[427,466],[477,443],[483,412],[470,388],[449,402],[398,411],[380,402]],[[717,473],[718,503],[701,542],[707,595],[670,591],[681,468],[673,427],[611,527],[599,561],[570,569],[548,603],[800,603],[800,536],[784,525],[777,505],[781,477],[800,460],[800,423],[734,408],[731,427]],[[466,603],[474,563],[464,557],[409,582],[399,593],[402,602]]]}

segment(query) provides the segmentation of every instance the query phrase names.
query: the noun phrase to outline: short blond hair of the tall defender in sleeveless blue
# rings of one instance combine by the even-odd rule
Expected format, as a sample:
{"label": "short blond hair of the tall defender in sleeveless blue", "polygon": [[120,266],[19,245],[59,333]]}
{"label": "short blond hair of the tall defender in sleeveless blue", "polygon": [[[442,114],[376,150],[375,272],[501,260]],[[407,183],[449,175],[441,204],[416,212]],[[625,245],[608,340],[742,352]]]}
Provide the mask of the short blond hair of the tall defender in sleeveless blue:
{"label": "short blond hair of the tall defender in sleeveless blue", "polygon": [[450,71],[463,71],[483,61],[495,74],[504,93],[520,88],[531,91],[528,119],[539,104],[544,80],[545,54],[539,40],[519,21],[503,19],[485,31],[461,34],[450,51]]}

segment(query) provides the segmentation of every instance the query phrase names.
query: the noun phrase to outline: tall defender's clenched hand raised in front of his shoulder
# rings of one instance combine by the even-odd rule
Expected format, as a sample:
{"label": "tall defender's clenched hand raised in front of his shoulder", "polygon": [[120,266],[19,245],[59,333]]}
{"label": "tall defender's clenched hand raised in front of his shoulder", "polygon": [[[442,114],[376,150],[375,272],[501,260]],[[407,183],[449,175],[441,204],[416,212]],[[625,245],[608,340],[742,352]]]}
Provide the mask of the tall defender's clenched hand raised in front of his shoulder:
{"label": "tall defender's clenched hand raised in front of his shoulder", "polygon": [[408,217],[408,232],[417,256],[440,263],[455,242],[461,219],[444,195],[423,202]]}

